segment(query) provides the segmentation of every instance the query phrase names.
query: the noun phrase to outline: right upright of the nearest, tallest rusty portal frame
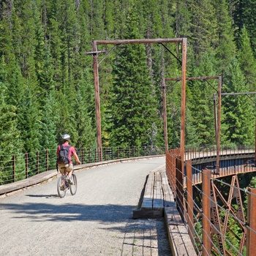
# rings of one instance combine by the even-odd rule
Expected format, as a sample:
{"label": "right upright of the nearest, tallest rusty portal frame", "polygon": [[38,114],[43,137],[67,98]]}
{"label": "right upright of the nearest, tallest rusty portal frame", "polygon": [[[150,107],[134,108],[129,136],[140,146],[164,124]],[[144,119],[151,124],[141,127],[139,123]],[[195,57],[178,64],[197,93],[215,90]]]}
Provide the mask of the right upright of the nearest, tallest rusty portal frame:
{"label": "right upright of the nearest, tallest rusty portal frame", "polygon": [[187,67],[187,38],[183,38],[182,39],[182,69],[181,69],[181,173],[183,175],[184,175],[184,154],[185,154],[186,67]]}

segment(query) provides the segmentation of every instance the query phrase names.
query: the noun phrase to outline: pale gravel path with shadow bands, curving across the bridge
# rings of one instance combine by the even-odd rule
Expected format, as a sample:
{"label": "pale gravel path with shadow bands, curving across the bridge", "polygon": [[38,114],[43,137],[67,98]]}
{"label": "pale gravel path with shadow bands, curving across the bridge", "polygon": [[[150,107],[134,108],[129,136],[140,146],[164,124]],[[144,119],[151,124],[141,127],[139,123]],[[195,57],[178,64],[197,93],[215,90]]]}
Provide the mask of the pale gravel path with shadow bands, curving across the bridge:
{"label": "pale gravel path with shadow bands, curving across the bridge", "polygon": [[149,171],[165,157],[76,172],[64,198],[56,178],[0,198],[0,255],[169,256],[163,219],[132,219]]}

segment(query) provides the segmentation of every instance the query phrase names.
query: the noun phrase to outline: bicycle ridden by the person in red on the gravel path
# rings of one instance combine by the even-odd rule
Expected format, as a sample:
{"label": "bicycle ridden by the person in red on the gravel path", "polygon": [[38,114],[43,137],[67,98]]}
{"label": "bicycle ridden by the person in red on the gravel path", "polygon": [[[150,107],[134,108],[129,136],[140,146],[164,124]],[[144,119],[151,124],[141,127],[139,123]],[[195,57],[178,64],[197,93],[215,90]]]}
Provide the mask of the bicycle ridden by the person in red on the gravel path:
{"label": "bicycle ridden by the person in red on the gravel path", "polygon": [[72,173],[72,184],[69,184],[67,181],[67,172],[65,171],[64,175],[59,176],[57,181],[57,191],[59,197],[64,197],[68,189],[70,189],[71,195],[75,195],[78,189],[77,177]]}

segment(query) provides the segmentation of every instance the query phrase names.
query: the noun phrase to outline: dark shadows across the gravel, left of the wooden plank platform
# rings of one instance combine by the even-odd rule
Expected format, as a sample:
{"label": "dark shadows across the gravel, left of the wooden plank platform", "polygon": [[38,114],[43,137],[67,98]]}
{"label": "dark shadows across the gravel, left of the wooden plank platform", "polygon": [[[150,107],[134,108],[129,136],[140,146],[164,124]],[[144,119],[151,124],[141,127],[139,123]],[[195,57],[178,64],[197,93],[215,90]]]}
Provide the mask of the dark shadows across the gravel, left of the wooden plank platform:
{"label": "dark shadows across the gravel, left of the wooden plank platform", "polygon": [[[34,196],[34,195],[33,195]],[[38,197],[56,197],[55,195],[40,195]],[[36,196],[37,197],[37,196]],[[48,203],[0,204],[1,209],[13,211],[15,218],[27,218],[38,222],[71,222],[71,221],[99,221],[123,222],[132,218],[134,206],[116,205],[83,205]],[[47,216],[45,216],[47,214]],[[19,216],[20,215],[20,216]]]}

